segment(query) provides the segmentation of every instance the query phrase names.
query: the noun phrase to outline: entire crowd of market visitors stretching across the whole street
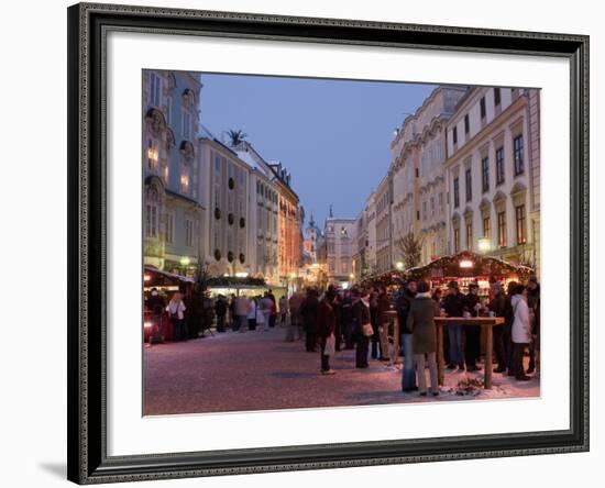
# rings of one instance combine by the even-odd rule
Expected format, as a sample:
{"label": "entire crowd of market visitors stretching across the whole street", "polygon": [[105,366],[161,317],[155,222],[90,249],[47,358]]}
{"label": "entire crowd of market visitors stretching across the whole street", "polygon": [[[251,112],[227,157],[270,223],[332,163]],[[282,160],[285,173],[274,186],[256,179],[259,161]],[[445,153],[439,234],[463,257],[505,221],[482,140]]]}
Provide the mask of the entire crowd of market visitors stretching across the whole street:
{"label": "entire crowd of market visitors stretching across the whole street", "polygon": [[[386,286],[337,289],[323,292],[309,288],[276,300],[272,290],[246,297],[219,296],[211,300],[194,287],[189,292],[175,292],[165,303],[157,289],[152,289],[146,309],[152,315],[152,339],[162,336],[162,315],[167,313],[173,340],[197,337],[216,323],[218,333],[268,331],[280,324],[285,340],[302,341],[307,352],[320,353],[320,373],[333,375],[331,358],[340,351],[355,350],[355,367],[367,368],[369,361],[391,362],[404,357],[402,390],[439,395],[437,369],[437,317],[501,317],[504,323],[493,328],[496,358],[494,373],[527,381],[539,373],[540,285],[535,276],[526,284],[509,281],[506,290],[501,281],[491,282],[487,297],[480,297],[472,282],[462,293],[457,281],[447,289],[433,288],[427,281],[408,280],[397,289]],[[399,350],[394,351],[393,315],[399,323]],[[449,321],[443,334],[443,355],[450,371],[482,369],[482,334],[480,325]],[[150,340],[151,341],[151,340]],[[395,342],[395,341],[393,341]],[[484,345],[483,345],[484,347]],[[524,358],[529,356],[527,369]],[[483,365],[483,367],[493,367]]]}

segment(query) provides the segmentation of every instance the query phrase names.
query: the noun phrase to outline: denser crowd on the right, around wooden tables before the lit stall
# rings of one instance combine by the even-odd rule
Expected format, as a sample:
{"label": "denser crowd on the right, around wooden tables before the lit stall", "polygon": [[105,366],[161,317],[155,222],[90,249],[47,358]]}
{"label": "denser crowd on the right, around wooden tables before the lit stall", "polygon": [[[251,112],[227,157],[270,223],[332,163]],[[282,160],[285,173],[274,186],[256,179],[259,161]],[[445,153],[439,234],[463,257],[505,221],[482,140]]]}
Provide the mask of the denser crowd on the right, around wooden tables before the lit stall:
{"label": "denser crowd on the right, around wooden tables before the lit stall", "polygon": [[[527,282],[509,281],[506,291],[493,280],[487,297],[480,297],[479,285],[469,285],[462,293],[457,281],[447,290],[430,289],[427,281],[408,280],[398,289],[385,286],[337,290],[330,286],[323,293],[308,289],[289,301],[292,328],[305,334],[308,352],[320,352],[321,374],[333,375],[330,358],[342,348],[355,348],[355,367],[367,368],[369,361],[392,361],[392,354],[404,357],[402,390],[439,395],[437,369],[437,317],[501,317],[495,325],[493,347],[497,364],[494,373],[527,381],[537,374],[540,351],[540,286],[535,276]],[[397,314],[399,351],[392,351],[392,313]],[[461,320],[462,322],[462,320]],[[481,325],[449,321],[443,334],[443,352],[450,371],[482,369]],[[299,333],[300,334],[300,333]],[[294,340],[289,333],[287,340]],[[529,356],[525,368],[524,358]],[[484,365],[483,367],[494,367]]]}

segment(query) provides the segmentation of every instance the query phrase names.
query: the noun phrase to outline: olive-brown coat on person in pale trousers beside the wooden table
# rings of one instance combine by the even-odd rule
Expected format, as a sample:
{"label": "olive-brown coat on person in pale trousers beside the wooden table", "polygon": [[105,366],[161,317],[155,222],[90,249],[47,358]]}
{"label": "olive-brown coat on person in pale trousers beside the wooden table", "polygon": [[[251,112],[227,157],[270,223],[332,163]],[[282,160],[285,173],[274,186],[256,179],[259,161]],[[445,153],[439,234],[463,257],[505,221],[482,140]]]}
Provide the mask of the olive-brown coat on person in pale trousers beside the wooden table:
{"label": "olive-brown coat on person in pale trousers beside the wooden table", "polygon": [[414,354],[437,352],[438,304],[429,293],[418,293],[407,315],[407,330],[413,331]]}

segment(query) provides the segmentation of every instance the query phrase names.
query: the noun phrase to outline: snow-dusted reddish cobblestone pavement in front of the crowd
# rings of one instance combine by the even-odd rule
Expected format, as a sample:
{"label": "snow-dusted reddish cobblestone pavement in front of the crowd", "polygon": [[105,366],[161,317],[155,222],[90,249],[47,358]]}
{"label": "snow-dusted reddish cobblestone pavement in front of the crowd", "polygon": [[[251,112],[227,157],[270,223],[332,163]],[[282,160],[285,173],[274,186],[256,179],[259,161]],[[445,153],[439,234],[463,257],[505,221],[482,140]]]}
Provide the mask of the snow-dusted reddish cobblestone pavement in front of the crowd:
{"label": "snow-dusted reddish cobblestone pavement in front of the crowd", "polygon": [[539,379],[510,381],[494,374],[492,390],[476,396],[454,391],[461,379],[482,374],[449,373],[441,395],[403,393],[399,366],[370,361],[354,368],[354,351],[336,354],[333,376],[319,374],[319,353],[305,352],[301,341],[285,342],[286,330],[227,332],[144,350],[146,415],[245,410],[339,407],[498,399],[539,396]]}

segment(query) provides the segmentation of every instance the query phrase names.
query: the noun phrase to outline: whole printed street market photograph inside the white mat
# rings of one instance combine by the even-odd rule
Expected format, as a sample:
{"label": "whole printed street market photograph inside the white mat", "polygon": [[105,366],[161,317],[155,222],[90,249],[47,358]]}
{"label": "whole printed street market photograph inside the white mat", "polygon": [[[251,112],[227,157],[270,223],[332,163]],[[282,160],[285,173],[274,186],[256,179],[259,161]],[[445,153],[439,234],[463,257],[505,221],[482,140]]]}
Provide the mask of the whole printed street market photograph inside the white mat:
{"label": "whole printed street market photograph inside the white mat", "polygon": [[540,88],[141,79],[144,417],[540,398]]}

